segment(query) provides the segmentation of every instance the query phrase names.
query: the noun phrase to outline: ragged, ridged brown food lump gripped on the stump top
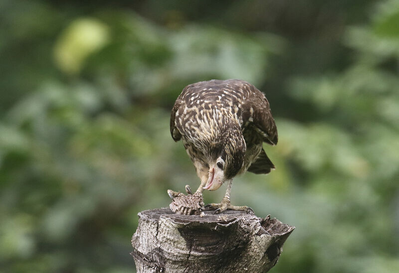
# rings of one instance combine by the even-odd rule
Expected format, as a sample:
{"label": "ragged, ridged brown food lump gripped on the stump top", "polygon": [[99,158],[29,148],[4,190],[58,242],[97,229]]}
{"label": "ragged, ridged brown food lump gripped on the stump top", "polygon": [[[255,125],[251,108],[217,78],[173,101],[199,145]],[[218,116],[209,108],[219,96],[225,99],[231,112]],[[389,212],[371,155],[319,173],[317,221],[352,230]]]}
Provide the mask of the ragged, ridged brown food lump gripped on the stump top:
{"label": "ragged, ridged brown food lump gripped on the stump top", "polygon": [[188,195],[168,190],[169,197],[173,200],[169,207],[178,214],[200,214],[203,210],[202,194],[197,192],[193,194],[189,185],[186,185],[186,192]]}

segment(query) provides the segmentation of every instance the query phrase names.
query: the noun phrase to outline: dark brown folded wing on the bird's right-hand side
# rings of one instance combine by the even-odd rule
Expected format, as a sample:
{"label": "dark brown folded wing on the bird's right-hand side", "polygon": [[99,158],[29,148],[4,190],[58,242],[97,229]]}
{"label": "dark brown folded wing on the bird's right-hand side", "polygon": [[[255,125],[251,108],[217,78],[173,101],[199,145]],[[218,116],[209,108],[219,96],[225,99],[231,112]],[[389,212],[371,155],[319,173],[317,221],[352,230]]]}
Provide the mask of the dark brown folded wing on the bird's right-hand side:
{"label": "dark brown folded wing on the bird's right-hand side", "polygon": [[249,96],[242,104],[243,126],[252,124],[264,142],[277,144],[277,127],[265,95],[251,84],[246,84],[244,88],[248,90]]}

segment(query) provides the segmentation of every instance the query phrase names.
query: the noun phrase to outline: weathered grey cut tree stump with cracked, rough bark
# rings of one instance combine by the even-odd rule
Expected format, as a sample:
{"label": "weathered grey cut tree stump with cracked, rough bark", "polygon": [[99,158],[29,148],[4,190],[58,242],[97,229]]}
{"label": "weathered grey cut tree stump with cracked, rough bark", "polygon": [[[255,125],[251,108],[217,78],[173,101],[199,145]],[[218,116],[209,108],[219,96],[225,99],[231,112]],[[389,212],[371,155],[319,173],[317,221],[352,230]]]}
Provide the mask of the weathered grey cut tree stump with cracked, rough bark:
{"label": "weathered grey cut tree stump with cracked, rough bark", "polygon": [[131,253],[139,273],[267,272],[294,227],[241,211],[179,215],[142,211]]}

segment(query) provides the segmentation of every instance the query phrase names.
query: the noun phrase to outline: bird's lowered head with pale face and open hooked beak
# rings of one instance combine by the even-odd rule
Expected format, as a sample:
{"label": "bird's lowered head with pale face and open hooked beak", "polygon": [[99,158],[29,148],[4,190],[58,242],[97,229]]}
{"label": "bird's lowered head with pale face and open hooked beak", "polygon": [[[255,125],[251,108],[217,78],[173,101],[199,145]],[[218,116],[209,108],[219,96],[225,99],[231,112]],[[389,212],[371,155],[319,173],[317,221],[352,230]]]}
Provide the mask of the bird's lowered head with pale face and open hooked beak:
{"label": "bird's lowered head with pale face and open hooked beak", "polygon": [[[241,132],[240,132],[241,133]],[[209,175],[204,189],[217,190],[225,181],[232,179],[242,168],[245,141],[241,134],[210,147],[208,157]]]}

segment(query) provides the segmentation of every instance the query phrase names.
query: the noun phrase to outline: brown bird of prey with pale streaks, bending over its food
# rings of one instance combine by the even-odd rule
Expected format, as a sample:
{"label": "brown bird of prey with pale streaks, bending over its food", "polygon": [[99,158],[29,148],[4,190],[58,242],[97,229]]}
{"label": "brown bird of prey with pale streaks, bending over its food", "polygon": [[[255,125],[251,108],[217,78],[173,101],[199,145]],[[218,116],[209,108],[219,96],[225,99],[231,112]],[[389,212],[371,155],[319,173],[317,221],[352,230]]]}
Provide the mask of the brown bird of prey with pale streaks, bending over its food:
{"label": "brown bird of prey with pale streaks, bending over its food", "polygon": [[[252,84],[236,79],[201,81],[186,86],[171,113],[170,131],[182,140],[200,186],[196,194],[227,183],[220,203],[205,207],[253,212],[230,202],[233,178],[246,171],[267,174],[275,168],[263,142],[276,145],[277,127],[265,95]],[[189,191],[188,191],[189,192]],[[171,196],[172,197],[172,196]]]}

